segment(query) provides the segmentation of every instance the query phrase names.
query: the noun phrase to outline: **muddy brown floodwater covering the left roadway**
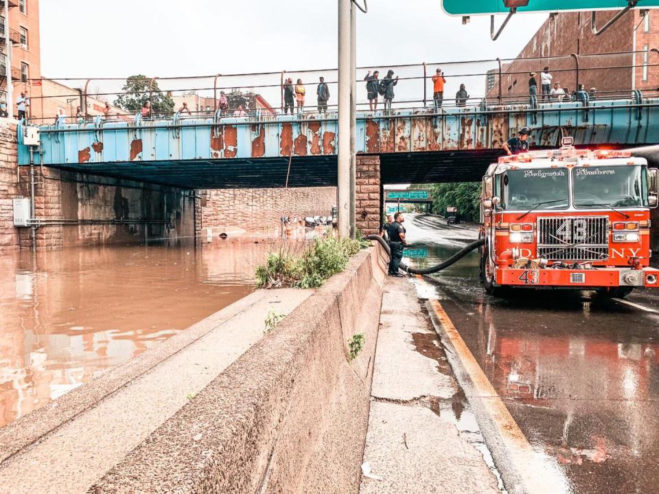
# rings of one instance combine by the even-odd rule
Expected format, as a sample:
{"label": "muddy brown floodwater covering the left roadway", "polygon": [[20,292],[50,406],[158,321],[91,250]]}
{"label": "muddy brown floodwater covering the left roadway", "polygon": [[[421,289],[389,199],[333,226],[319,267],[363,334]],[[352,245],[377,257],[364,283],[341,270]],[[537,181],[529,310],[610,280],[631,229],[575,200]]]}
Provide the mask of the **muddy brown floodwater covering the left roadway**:
{"label": "muddy brown floodwater covering the left roadway", "polygon": [[254,289],[272,243],[0,254],[0,427]]}

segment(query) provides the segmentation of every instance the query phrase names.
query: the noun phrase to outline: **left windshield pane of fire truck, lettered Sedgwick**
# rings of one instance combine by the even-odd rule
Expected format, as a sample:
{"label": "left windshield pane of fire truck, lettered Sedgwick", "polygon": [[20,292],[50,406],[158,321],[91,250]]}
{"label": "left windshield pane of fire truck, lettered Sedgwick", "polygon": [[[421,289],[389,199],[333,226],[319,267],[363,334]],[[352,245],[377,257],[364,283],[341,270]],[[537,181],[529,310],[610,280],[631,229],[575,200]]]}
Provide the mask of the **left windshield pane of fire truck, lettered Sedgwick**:
{"label": "left windshield pane of fire truck, lettered Sedgwick", "polygon": [[570,204],[567,168],[507,170],[501,206],[505,210],[566,209]]}

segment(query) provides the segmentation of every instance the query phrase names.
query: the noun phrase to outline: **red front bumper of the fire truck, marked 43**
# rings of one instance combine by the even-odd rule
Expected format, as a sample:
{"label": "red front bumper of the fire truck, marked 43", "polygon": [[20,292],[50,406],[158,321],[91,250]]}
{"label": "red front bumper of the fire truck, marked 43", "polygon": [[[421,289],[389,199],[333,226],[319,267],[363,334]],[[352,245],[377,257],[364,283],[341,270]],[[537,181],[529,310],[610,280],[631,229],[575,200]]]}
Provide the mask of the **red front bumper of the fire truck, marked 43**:
{"label": "red front bumper of the fire truck, marked 43", "polygon": [[659,269],[497,269],[496,283],[522,287],[659,288]]}

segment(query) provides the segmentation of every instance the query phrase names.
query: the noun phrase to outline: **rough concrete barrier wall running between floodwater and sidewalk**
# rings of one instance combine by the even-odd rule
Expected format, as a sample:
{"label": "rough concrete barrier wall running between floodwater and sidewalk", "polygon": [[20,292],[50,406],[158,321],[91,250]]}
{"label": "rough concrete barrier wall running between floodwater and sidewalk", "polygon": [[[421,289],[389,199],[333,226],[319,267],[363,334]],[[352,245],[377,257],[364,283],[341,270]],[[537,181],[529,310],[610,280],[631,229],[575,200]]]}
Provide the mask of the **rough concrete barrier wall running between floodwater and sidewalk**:
{"label": "rough concrete barrier wall running between floodwater and sidewalk", "polygon": [[89,492],[357,493],[385,269],[355,256]]}

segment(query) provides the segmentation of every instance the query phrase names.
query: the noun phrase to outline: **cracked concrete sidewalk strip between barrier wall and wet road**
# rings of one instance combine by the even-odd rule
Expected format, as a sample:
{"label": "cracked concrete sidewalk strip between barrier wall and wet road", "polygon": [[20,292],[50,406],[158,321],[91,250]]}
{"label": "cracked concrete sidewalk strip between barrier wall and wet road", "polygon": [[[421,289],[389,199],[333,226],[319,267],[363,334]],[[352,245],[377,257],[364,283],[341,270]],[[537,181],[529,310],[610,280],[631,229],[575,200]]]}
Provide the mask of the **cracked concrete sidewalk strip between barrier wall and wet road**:
{"label": "cracked concrete sidewalk strip between barrier wall and wet road", "polygon": [[360,494],[500,493],[478,425],[408,278],[387,278]]}

